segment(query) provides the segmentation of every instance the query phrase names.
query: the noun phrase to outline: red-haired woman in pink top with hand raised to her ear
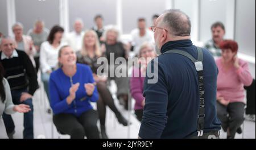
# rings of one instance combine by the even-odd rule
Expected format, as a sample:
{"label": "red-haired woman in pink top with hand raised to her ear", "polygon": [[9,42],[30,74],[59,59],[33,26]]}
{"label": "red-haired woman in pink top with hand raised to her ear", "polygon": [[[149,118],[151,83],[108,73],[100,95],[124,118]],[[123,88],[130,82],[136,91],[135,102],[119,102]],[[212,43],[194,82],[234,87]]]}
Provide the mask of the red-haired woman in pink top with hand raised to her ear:
{"label": "red-haired woman in pink top with hand raised to her ear", "polygon": [[253,81],[247,62],[237,58],[236,41],[224,40],[220,44],[221,57],[216,60],[217,78],[217,113],[227,138],[234,138],[241,133],[245,94],[243,86]]}

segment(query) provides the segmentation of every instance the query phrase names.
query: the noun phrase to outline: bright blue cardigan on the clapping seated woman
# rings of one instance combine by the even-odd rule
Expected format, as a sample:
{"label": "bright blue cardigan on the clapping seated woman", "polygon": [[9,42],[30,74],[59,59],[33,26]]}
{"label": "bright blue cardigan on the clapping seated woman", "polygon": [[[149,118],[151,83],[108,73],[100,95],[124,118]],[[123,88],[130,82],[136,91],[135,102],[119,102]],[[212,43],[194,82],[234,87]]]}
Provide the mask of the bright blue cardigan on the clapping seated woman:
{"label": "bright blue cardigan on the clapping seated woman", "polygon": [[[67,97],[69,96],[69,88],[73,84],[80,83],[79,89],[76,91],[76,98],[68,105]],[[94,83],[92,70],[88,65],[77,64],[77,72],[71,78],[66,76],[61,68],[51,73],[49,79],[49,91],[51,99],[51,107],[54,114],[73,114],[80,116],[85,111],[93,109],[90,102],[98,100],[97,88],[93,91],[93,95],[88,97],[84,84]]]}

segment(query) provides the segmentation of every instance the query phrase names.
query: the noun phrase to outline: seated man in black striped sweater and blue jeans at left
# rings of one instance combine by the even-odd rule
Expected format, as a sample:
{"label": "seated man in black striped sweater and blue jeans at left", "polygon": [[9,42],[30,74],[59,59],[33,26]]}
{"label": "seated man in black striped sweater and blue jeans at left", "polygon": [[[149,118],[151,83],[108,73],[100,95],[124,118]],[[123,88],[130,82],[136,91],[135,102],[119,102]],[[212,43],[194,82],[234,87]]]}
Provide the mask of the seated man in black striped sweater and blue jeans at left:
{"label": "seated man in black striped sweater and blue jeans at left", "polygon": [[[25,52],[14,48],[13,39],[4,37],[0,44],[2,49],[0,61],[5,69],[5,78],[11,87],[13,103],[15,105],[23,103],[30,106],[31,111],[24,113],[23,138],[32,139],[34,138],[32,95],[38,89],[35,68]],[[11,115],[3,114],[3,121],[7,135],[9,138],[13,138],[15,126]]]}

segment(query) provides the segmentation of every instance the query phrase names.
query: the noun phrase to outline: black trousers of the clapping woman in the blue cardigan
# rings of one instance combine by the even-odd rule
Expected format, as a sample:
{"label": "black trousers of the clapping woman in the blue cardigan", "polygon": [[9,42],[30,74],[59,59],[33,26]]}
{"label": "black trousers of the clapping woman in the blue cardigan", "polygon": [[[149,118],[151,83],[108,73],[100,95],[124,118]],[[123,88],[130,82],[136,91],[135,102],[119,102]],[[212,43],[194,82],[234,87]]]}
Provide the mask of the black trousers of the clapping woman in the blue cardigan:
{"label": "black trousers of the clapping woman in the blue cardigan", "polygon": [[53,115],[53,123],[58,131],[68,134],[71,139],[100,139],[97,127],[98,113],[96,110],[88,110],[79,117],[73,114]]}

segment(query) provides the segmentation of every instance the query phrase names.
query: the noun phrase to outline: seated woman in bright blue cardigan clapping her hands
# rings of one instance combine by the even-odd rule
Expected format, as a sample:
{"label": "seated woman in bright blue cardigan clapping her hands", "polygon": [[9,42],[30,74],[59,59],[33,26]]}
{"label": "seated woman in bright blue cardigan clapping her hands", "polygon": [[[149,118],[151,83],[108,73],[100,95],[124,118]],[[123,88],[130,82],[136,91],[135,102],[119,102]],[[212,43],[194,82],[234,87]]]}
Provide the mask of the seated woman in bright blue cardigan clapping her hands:
{"label": "seated woman in bright blue cardigan clapping her hands", "polygon": [[59,63],[61,67],[49,79],[53,123],[71,139],[100,138],[98,114],[90,105],[98,100],[92,70],[87,65],[76,64],[76,54],[69,46],[60,49]]}

